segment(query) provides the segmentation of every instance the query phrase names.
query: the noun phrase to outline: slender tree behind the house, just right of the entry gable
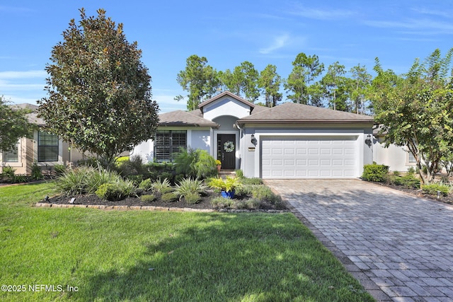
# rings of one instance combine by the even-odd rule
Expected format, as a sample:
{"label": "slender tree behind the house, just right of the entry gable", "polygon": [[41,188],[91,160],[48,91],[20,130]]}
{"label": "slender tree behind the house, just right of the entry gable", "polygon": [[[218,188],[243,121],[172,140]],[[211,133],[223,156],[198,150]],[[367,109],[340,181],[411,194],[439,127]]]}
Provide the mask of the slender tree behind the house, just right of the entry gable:
{"label": "slender tree behind the house, just right of the entry gable", "polygon": [[277,74],[277,66],[269,64],[260,72],[258,87],[263,89],[266,107],[274,107],[282,100],[281,85],[282,78]]}

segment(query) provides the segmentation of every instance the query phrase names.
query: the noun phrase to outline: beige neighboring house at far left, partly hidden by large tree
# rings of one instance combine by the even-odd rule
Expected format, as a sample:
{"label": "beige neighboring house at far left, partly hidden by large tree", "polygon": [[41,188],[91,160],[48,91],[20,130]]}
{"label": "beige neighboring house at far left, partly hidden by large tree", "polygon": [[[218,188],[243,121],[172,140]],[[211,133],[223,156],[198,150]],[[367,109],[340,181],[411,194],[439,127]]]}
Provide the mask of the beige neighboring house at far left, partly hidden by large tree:
{"label": "beige neighboring house at far left, partly hidden by large tree", "polygon": [[45,122],[36,115],[35,110],[38,106],[30,104],[16,106],[32,110],[27,117],[30,122],[38,125],[38,130],[33,132],[33,138],[22,137],[19,139],[13,150],[0,150],[0,173],[3,171],[3,167],[10,166],[16,170],[16,174],[29,175],[33,163],[37,163],[45,172],[52,170],[55,165],[76,163],[84,158],[81,152],[69,148],[67,142],[59,139],[57,135],[40,129]]}

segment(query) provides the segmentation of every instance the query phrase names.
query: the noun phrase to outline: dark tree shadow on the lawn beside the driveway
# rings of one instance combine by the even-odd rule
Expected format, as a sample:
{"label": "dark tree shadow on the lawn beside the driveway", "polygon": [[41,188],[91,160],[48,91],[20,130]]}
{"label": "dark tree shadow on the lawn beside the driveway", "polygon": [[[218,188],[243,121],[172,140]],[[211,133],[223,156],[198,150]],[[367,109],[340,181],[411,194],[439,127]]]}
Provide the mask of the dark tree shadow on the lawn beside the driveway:
{"label": "dark tree shadow on the lawn beside the driveway", "polygon": [[292,214],[195,214],[133,267],[93,274],[73,298],[372,301]]}

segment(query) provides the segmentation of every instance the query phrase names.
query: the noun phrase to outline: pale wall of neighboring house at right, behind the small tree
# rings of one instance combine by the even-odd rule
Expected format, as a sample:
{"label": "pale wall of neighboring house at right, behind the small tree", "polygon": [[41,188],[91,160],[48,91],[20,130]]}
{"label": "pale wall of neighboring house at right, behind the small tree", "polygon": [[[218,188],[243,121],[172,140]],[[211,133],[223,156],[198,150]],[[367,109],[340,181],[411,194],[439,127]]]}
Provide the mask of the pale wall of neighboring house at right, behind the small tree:
{"label": "pale wall of neighboring house at right, behind the small tree", "polygon": [[408,168],[415,168],[416,161],[412,153],[406,147],[390,144],[385,147],[384,133],[381,128],[373,129],[373,161],[382,165],[388,165],[390,171],[407,172]]}

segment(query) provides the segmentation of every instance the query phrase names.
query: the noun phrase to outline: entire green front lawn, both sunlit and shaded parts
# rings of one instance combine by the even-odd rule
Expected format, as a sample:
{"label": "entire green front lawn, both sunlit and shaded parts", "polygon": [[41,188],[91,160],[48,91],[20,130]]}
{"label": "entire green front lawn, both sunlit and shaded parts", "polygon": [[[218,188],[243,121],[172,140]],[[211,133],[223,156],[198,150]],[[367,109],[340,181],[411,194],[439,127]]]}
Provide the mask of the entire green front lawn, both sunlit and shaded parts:
{"label": "entire green front lawn, both sunlit and shaded parts", "polygon": [[27,286],[1,301],[373,301],[292,214],[30,207],[45,194],[0,187],[0,284]]}

